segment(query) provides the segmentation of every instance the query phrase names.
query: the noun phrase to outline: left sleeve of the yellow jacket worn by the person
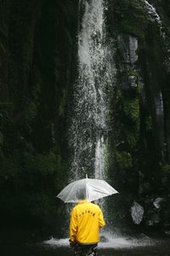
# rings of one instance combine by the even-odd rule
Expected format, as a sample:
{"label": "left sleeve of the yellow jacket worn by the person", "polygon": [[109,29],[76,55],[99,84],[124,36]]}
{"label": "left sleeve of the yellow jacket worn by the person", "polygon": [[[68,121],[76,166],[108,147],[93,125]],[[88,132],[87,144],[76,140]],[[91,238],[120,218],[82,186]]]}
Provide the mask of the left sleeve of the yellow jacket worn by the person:
{"label": "left sleeve of the yellow jacket worn by the person", "polygon": [[76,241],[77,236],[77,211],[73,208],[71,212],[71,221],[70,221],[70,242],[73,243]]}

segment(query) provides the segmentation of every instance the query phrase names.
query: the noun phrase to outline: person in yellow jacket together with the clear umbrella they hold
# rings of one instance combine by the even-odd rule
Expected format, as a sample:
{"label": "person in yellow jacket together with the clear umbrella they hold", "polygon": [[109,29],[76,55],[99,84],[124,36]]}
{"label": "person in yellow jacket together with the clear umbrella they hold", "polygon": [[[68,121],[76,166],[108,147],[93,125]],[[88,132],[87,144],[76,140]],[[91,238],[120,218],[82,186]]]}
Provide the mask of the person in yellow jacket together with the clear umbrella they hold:
{"label": "person in yellow jacket together with the clear umbrella they hold", "polygon": [[71,211],[70,245],[75,256],[97,255],[99,229],[105,226],[103,213],[99,206],[91,201],[118,193],[104,180],[79,179],[62,189],[59,199],[65,202],[77,202]]}

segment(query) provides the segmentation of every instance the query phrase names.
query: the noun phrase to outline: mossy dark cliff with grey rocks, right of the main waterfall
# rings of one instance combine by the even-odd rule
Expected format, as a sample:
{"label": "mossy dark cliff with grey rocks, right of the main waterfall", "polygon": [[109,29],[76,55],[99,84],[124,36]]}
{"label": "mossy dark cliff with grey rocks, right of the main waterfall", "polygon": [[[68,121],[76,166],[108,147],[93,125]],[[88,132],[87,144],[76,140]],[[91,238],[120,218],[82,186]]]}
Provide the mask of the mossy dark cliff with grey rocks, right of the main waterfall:
{"label": "mossy dark cliff with grey rocks, right of the main waterfall", "polygon": [[144,207],[140,226],[149,230],[170,225],[169,8],[166,1],[109,1],[106,11],[116,61],[110,175],[122,194],[115,218],[126,224],[137,201]]}

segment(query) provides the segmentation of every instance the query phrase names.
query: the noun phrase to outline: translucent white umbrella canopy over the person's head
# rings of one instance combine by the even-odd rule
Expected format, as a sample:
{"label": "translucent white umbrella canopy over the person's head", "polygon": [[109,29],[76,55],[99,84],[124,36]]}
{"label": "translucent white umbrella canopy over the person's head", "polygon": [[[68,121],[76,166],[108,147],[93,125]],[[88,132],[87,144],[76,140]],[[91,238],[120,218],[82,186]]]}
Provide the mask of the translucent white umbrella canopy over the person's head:
{"label": "translucent white umbrella canopy over the person's head", "polygon": [[57,197],[65,202],[77,202],[82,199],[95,201],[116,193],[118,193],[116,189],[104,180],[86,177],[68,184]]}

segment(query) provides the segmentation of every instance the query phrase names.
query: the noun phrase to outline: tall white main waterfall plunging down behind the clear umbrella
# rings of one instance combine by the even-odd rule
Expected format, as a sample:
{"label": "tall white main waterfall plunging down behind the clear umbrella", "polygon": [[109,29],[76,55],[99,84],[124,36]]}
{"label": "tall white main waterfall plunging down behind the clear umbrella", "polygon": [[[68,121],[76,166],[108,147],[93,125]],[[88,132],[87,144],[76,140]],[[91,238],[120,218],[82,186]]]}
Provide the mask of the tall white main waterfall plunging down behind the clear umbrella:
{"label": "tall white main waterfall plunging down behind the clear umbrella", "polygon": [[105,41],[102,0],[82,0],[79,21],[77,81],[74,84],[70,129],[71,179],[105,177],[109,131],[108,90],[111,86],[109,47]]}

